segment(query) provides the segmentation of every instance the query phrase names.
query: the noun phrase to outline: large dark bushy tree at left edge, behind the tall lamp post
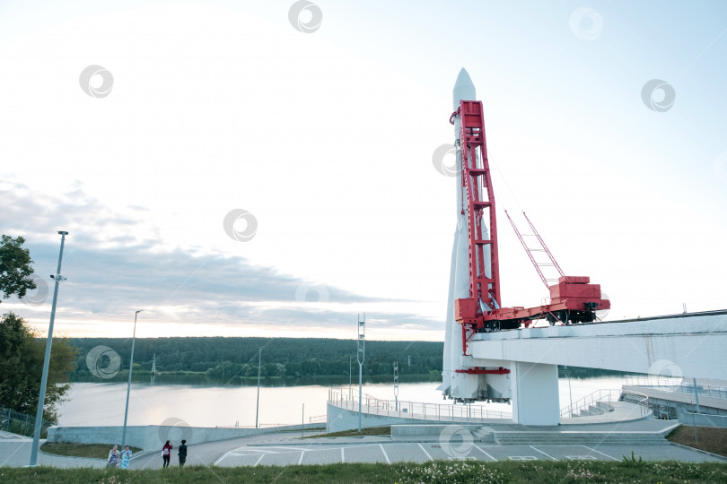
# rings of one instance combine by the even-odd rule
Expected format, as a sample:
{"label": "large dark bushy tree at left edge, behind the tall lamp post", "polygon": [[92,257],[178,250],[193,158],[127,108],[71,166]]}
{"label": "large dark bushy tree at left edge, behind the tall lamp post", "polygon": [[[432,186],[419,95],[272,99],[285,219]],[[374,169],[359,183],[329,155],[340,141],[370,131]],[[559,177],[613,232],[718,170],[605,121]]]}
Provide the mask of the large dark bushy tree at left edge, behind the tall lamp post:
{"label": "large dark bushy tree at left edge, behind the tall lamp post", "polygon": [[[0,405],[35,414],[46,343],[28,323],[13,313],[0,318]],[[54,338],[48,367],[48,389],[43,418],[57,422],[57,404],[68,392],[68,376],[75,370],[78,350],[66,338]]]}

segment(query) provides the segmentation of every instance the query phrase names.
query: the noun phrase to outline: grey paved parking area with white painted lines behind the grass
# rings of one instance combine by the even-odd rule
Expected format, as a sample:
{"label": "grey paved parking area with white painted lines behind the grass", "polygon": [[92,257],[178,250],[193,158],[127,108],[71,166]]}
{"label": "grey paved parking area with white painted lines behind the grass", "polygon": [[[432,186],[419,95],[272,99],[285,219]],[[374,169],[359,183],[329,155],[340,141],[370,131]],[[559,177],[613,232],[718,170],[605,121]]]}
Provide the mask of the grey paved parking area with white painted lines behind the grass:
{"label": "grey paved parking area with white painted lines behind the grass", "polygon": [[[315,432],[306,432],[306,436]],[[624,455],[647,461],[724,462],[727,459],[678,445],[496,445],[477,441],[442,443],[436,436],[416,441],[392,436],[349,436],[301,439],[283,432],[188,446],[188,465],[221,467],[306,465],[336,462],[427,462],[432,460],[495,461],[621,461]],[[406,437],[404,437],[406,438]],[[31,439],[0,437],[0,466],[28,465]],[[104,467],[103,459],[39,454],[39,464],[56,467]],[[171,465],[177,465],[172,451]],[[132,469],[162,467],[161,451],[134,456]]]}

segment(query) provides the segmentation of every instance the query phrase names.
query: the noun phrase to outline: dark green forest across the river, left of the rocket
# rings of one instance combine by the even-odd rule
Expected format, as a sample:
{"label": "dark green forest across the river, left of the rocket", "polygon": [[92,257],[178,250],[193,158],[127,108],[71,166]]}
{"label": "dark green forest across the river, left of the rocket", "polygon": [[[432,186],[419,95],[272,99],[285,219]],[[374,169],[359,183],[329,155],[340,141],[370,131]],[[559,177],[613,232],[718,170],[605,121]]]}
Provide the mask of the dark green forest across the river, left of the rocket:
{"label": "dark green forest across the river, left of the rocket", "polygon": [[[131,339],[72,338],[69,343],[79,349],[74,381],[92,379],[86,358],[93,348],[107,346],[121,359],[121,372],[128,368]],[[348,376],[349,358],[354,374],[358,373],[356,341],[318,338],[238,338],[238,337],[172,337],[137,338],[134,350],[134,372],[148,374],[156,355],[156,371],[160,374],[195,373],[212,379],[228,380],[258,377],[258,350],[261,354],[260,375],[264,379],[301,378],[309,376]],[[399,375],[439,375],[442,371],[443,343],[438,341],[366,341],[363,374],[393,375],[394,362],[399,362]],[[104,359],[109,357],[104,355]],[[109,361],[99,362],[107,367]]]}

